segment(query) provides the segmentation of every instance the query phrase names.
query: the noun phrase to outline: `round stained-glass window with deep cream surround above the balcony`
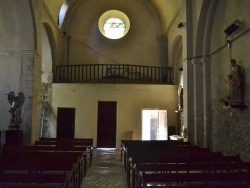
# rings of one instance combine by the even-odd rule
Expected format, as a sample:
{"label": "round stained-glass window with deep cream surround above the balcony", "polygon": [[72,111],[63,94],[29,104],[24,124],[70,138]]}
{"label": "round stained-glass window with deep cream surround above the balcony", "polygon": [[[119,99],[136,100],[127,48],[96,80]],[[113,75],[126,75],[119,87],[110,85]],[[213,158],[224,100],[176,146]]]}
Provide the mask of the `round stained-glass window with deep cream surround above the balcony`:
{"label": "round stained-glass window with deep cream surround above the balcony", "polygon": [[128,33],[130,22],[123,12],[110,10],[102,14],[98,27],[105,37],[109,39],[119,39]]}

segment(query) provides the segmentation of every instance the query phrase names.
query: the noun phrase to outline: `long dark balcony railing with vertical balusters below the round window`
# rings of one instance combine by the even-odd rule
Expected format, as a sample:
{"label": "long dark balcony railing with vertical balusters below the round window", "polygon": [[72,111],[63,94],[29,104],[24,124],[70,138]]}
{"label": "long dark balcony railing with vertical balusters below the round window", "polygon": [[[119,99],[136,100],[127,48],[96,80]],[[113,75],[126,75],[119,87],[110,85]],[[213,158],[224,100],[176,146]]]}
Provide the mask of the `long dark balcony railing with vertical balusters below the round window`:
{"label": "long dark balcony railing with vertical balusters below the round window", "polygon": [[54,83],[173,84],[170,67],[86,64],[57,66]]}

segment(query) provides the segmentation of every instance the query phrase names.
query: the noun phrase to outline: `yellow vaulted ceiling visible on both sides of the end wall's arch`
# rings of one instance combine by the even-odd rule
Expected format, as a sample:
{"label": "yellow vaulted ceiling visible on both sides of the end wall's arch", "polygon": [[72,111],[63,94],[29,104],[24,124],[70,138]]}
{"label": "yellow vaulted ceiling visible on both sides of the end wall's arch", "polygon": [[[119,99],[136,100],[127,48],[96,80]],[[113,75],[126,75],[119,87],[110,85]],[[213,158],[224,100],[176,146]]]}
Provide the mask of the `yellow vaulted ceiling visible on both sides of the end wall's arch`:
{"label": "yellow vaulted ceiling visible on both sides of the end wall's arch", "polygon": [[[55,21],[58,20],[59,11],[64,1],[65,0],[57,0],[57,1],[44,0],[46,6],[50,10]],[[71,2],[77,0],[66,0],[66,1]],[[162,21],[164,31],[171,24],[171,21],[174,19],[175,15],[177,14],[178,10],[182,5],[182,0],[146,0],[146,1],[152,3],[152,5],[155,7]]]}

